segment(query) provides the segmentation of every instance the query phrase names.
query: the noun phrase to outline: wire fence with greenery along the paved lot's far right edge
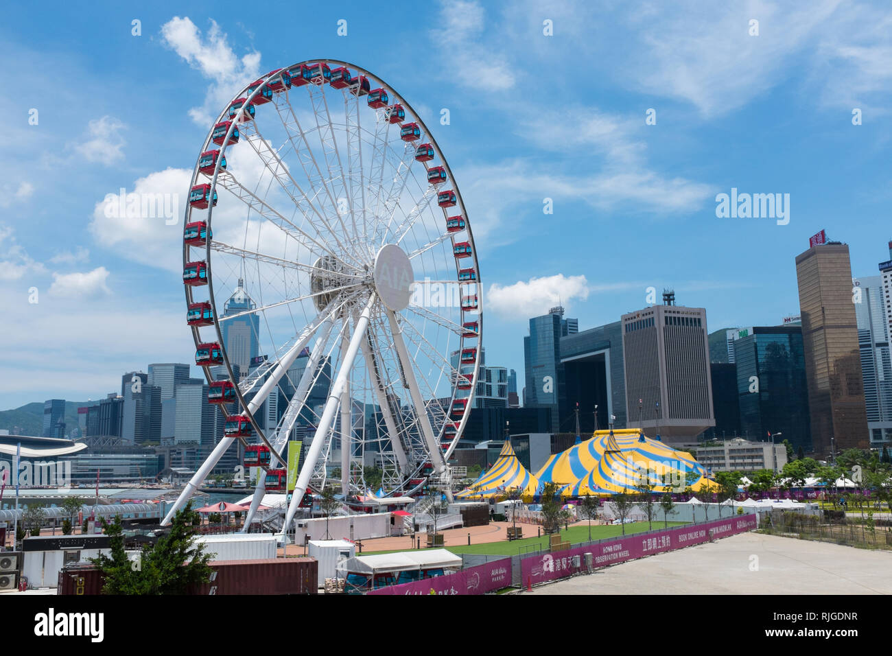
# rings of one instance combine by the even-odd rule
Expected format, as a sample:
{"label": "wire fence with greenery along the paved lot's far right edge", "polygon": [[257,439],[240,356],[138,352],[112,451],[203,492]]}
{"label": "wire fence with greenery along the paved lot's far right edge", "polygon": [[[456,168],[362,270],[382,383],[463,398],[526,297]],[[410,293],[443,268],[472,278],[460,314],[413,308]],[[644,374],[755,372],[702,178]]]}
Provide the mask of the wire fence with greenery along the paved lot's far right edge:
{"label": "wire fence with greenery along the paved lot's far right edge", "polygon": [[[885,524],[886,522],[882,522]],[[818,540],[874,549],[892,549],[892,531],[880,526],[871,516],[831,518],[803,516],[796,512],[773,511],[762,520],[765,533],[798,537],[800,540]]]}

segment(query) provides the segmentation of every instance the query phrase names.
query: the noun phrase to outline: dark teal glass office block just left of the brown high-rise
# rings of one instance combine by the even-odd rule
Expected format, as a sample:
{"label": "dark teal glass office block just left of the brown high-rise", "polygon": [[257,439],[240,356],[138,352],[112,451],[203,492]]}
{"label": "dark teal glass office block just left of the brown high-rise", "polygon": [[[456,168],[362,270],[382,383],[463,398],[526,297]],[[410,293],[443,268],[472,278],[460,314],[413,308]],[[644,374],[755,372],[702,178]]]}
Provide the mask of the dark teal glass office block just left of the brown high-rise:
{"label": "dark teal glass office block just left of the brown high-rise", "polygon": [[[734,342],[740,433],[761,442],[782,433],[798,451],[813,449],[809,431],[805,354],[800,326],[748,328]],[[717,413],[716,409],[716,413]]]}

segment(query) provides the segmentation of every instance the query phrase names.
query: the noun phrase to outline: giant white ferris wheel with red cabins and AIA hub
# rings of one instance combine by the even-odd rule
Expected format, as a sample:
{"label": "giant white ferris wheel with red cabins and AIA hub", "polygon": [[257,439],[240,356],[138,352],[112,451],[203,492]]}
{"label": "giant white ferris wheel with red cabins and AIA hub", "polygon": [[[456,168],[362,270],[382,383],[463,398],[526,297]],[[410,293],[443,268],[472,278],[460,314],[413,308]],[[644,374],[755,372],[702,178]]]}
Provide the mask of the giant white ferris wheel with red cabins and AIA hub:
{"label": "giant white ferris wheel with red cabins and AIA hub", "polygon": [[292,491],[294,441],[283,533],[310,487],[374,493],[368,467],[379,494],[448,484],[482,358],[477,251],[436,140],[382,80],[312,60],[227,104],[194,167],[183,282],[226,419],[164,523],[235,440],[264,474],[245,526]]}

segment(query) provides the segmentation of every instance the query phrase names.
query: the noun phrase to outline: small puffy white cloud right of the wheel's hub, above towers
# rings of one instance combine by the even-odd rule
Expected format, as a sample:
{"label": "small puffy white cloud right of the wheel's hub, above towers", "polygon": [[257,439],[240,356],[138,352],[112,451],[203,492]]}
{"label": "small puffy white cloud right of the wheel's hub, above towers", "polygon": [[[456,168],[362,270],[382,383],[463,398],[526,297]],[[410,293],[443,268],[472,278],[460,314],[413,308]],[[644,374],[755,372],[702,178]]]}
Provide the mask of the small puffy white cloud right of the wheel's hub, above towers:
{"label": "small puffy white cloud right of the wheel's hub, above towers", "polygon": [[589,297],[590,287],[585,276],[555,276],[530,278],[502,286],[493,283],[486,296],[484,307],[503,317],[535,317],[558,304],[565,306],[575,299]]}

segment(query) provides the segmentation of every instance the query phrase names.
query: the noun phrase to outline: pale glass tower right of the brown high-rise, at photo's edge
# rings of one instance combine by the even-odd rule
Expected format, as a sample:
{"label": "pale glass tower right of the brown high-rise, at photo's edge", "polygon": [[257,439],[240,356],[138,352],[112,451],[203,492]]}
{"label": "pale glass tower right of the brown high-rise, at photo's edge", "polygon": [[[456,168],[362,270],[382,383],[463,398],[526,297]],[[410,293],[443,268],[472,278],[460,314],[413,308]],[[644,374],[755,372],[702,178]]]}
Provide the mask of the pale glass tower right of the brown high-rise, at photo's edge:
{"label": "pale glass tower right of the brown high-rise, at photo's edge", "polygon": [[855,318],[871,447],[892,442],[892,361],[886,315],[888,287],[881,276],[855,278]]}

